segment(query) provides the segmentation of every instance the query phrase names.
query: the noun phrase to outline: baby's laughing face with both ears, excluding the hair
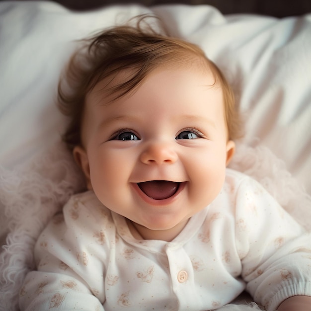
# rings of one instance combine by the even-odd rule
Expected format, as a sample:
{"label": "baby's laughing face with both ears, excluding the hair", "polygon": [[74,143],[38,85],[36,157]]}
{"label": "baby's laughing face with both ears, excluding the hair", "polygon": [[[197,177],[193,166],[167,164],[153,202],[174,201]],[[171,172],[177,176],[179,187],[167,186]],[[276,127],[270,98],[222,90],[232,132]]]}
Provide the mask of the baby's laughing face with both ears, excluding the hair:
{"label": "baby's laughing face with both ears, excluding the hair", "polygon": [[163,69],[131,96],[107,103],[101,81],[86,98],[74,154],[88,188],[144,237],[177,235],[223,186],[234,143],[213,83],[195,69]]}

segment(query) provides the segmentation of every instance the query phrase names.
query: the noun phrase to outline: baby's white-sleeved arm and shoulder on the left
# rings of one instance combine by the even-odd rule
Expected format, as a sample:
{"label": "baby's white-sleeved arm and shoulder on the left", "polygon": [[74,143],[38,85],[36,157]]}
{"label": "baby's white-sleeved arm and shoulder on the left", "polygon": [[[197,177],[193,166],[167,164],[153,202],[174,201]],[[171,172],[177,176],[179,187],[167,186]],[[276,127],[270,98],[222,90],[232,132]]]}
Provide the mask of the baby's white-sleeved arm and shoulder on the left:
{"label": "baby's white-sleeved arm and shoulder on the left", "polygon": [[28,273],[21,288],[21,311],[104,310],[106,252],[94,234],[105,218],[93,206],[87,195],[72,198],[64,214],[56,215],[40,235],[35,246],[37,271]]}

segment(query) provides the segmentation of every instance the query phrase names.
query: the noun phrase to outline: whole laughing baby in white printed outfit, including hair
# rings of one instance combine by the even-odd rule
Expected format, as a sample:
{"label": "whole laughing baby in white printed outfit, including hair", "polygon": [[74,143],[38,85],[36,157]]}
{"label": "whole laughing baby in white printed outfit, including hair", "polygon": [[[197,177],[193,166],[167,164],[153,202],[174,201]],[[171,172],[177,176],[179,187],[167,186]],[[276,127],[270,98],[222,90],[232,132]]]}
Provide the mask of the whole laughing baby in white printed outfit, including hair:
{"label": "whole laughing baby in white printed outfit, including hair", "polygon": [[[196,45],[144,22],[86,40],[59,86],[86,180],[35,247],[20,309],[311,310],[311,236],[227,168],[241,122]],[[84,46],[85,47],[85,46]]]}

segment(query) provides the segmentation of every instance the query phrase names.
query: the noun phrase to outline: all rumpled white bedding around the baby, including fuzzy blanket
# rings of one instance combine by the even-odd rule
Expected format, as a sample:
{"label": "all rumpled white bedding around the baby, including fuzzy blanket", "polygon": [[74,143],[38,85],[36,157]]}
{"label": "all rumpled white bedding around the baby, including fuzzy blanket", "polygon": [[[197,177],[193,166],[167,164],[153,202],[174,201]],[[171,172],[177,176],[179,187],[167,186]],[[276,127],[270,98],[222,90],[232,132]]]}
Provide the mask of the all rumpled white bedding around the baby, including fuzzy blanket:
{"label": "all rumpled white bedding around the baby, including fuzzy blanket", "polygon": [[311,228],[311,14],[224,16],[208,5],[78,13],[48,1],[1,1],[0,234],[10,233],[0,254],[0,310],[15,310],[37,234],[81,187],[59,143],[66,120],[55,105],[74,41],[141,13],[159,15],[172,35],[199,44],[223,70],[246,120],[232,166],[264,183]]}

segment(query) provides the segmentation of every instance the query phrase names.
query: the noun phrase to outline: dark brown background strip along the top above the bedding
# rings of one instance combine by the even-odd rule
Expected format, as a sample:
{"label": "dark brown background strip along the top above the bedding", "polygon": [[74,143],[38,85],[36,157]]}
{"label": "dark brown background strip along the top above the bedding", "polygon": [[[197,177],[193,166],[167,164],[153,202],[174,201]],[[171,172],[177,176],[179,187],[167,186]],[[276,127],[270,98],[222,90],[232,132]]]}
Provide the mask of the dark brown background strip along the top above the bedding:
{"label": "dark brown background strip along the top above the bedding", "polygon": [[286,17],[311,12],[311,0],[54,0],[73,10],[96,9],[106,5],[138,3],[146,6],[158,4],[210,4],[223,14],[253,13]]}

